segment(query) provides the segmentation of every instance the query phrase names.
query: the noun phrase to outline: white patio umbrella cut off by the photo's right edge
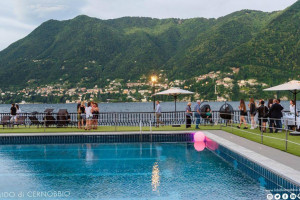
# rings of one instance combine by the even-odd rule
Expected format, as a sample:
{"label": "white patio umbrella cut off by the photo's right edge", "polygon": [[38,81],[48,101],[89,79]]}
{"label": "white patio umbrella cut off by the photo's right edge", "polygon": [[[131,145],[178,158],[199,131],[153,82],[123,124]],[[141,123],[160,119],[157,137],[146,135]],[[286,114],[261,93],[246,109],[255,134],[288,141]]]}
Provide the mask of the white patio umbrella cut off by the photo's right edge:
{"label": "white patio umbrella cut off by the photo's right edge", "polygon": [[296,100],[297,100],[297,94],[300,92],[300,81],[292,80],[290,82],[277,85],[271,88],[264,89],[264,91],[290,91],[294,95],[294,101],[295,101],[295,126],[297,127],[297,106],[296,106]]}

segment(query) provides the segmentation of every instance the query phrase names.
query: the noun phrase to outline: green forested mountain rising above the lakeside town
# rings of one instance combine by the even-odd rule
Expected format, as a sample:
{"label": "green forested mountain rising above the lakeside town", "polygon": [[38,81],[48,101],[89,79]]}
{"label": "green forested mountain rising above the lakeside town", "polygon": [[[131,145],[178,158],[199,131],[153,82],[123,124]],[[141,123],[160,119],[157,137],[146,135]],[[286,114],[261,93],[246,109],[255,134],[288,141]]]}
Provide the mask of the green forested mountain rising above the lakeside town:
{"label": "green forested mountain rising above the lakeside town", "polygon": [[[234,12],[218,19],[80,15],[49,20],[0,52],[0,89],[61,83],[103,87],[107,79],[138,80],[163,70],[169,80],[211,71],[273,85],[297,79],[300,1],[283,11]],[[257,91],[259,92],[259,91]]]}

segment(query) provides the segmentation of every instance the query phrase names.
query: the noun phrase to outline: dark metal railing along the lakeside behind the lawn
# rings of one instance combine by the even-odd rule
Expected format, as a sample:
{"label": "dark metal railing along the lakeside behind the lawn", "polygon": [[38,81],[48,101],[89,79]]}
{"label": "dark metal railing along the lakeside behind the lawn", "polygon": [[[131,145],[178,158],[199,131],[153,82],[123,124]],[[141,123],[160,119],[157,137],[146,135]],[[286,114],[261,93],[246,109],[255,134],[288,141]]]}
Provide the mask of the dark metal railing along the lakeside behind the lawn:
{"label": "dark metal railing along the lakeside behind the lawn", "polygon": [[[195,112],[194,112],[195,113]],[[232,115],[232,121],[240,120],[240,111],[235,110],[231,113],[223,113],[223,115]],[[211,111],[211,117],[214,122],[226,124],[228,119],[220,116],[220,111]],[[16,119],[9,113],[0,113],[0,125],[11,127],[12,125],[24,126],[46,126],[46,127],[61,127],[61,126],[77,126],[76,124],[81,121],[78,113],[68,113],[61,115],[59,113],[21,113],[18,114]],[[162,112],[160,120],[165,125],[172,124],[185,124],[186,113],[184,111],[178,112]],[[250,123],[250,114],[245,117],[247,123]],[[149,126],[150,123],[156,123],[156,115],[154,112],[101,112],[98,114],[97,119],[94,119],[99,126]],[[191,117],[191,122],[196,122],[196,117]],[[207,119],[200,117],[200,123],[206,123]]]}

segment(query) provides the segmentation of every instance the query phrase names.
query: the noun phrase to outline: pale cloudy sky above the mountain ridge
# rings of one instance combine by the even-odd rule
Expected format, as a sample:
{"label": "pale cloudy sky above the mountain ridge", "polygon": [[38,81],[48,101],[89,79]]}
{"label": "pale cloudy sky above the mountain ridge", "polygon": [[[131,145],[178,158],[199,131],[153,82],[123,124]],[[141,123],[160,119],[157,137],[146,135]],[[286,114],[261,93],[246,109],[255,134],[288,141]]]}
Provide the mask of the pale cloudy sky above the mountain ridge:
{"label": "pale cloudy sky above the mountain ridge", "polygon": [[49,19],[84,14],[100,19],[124,16],[218,18],[251,9],[283,10],[297,0],[0,0],[0,51]]}

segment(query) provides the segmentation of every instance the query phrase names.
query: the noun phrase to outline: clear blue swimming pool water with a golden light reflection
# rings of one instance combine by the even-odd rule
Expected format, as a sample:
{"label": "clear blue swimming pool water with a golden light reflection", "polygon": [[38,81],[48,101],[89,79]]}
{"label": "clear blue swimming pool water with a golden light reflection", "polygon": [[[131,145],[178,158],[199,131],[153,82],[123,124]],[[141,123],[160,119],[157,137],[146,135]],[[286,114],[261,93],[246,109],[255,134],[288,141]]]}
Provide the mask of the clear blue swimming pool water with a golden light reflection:
{"label": "clear blue swimming pool water with a golden light reflection", "polygon": [[0,199],[266,199],[192,143],[11,145],[0,162]]}

